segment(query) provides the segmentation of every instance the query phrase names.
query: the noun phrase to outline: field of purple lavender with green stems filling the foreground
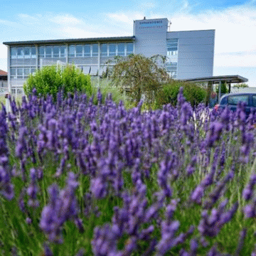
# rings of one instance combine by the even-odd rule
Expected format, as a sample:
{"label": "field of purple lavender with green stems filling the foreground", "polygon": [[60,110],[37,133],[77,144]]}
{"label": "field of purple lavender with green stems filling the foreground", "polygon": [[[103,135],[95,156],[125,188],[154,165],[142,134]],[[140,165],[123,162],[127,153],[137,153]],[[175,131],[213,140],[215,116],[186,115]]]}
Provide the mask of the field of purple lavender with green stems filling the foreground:
{"label": "field of purple lavender with green stems filling the foreground", "polygon": [[0,112],[0,255],[256,255],[255,122],[35,95]]}

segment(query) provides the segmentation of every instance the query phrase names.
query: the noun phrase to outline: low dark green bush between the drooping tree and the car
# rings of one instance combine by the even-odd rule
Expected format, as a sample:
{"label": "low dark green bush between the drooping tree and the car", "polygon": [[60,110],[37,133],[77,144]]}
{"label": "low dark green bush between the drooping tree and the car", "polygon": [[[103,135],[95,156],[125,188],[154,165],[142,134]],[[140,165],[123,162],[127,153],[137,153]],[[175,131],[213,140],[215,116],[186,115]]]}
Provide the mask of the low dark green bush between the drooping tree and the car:
{"label": "low dark green bush between the drooping tree and the car", "polygon": [[196,106],[206,100],[206,88],[191,82],[173,80],[166,85],[163,85],[161,90],[157,92],[156,108],[161,108],[161,106],[168,103],[171,103],[171,105],[176,105],[178,90],[180,87],[183,87],[183,95],[186,98],[186,101],[190,102],[192,106]]}

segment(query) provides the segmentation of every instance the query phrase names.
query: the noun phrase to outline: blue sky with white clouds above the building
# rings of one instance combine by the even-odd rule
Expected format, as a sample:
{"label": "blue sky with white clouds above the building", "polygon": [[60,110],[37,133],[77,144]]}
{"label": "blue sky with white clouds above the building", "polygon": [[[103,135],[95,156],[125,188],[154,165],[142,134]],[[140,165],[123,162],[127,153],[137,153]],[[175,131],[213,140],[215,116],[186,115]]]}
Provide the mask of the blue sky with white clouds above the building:
{"label": "blue sky with white clouds above the building", "polygon": [[144,16],[168,18],[171,31],[215,29],[213,75],[241,75],[256,87],[256,0],[1,0],[0,69],[3,42],[132,36]]}

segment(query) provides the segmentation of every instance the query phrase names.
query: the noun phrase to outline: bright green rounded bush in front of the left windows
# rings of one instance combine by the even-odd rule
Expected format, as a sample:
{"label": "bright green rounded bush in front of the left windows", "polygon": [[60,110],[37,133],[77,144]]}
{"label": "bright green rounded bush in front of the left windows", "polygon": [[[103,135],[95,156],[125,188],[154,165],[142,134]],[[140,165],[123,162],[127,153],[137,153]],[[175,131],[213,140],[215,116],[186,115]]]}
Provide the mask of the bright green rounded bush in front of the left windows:
{"label": "bright green rounded bush in front of the left windows", "polygon": [[65,65],[63,68],[51,65],[37,70],[23,86],[26,95],[31,94],[33,88],[36,88],[38,95],[52,95],[54,100],[60,90],[63,90],[65,96],[75,91],[92,94],[90,76],[83,74],[75,65]]}

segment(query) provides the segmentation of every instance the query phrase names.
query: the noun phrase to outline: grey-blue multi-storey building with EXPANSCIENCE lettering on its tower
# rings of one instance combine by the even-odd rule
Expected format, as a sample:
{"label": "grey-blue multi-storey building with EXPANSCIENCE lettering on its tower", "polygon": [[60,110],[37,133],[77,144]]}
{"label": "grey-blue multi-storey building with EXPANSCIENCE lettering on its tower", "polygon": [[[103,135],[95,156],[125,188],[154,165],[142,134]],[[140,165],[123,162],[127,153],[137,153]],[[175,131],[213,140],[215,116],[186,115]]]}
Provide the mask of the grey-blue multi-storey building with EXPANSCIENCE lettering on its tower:
{"label": "grey-blue multi-storey building with EXPANSCIENCE lettering on its tower", "polygon": [[85,74],[102,76],[109,60],[131,53],[166,56],[174,79],[213,75],[215,30],[169,31],[167,18],[134,21],[134,35],[48,41],[5,42],[10,92],[23,92],[28,75],[45,65],[73,63]]}

